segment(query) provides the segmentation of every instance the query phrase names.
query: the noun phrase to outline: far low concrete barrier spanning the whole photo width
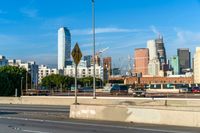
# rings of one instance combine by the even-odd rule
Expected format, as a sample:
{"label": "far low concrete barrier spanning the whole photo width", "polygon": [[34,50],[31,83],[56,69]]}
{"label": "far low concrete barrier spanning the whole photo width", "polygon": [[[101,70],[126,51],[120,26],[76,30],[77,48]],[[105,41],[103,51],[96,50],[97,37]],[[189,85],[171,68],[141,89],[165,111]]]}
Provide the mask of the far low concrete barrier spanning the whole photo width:
{"label": "far low concrete barrier spanning the whole photo width", "polygon": [[[39,104],[39,105],[71,105],[74,97],[59,96],[23,96],[0,97],[0,104]],[[194,106],[200,107],[200,99],[177,98],[132,98],[132,97],[78,97],[80,104],[95,105],[138,105],[138,106]]]}

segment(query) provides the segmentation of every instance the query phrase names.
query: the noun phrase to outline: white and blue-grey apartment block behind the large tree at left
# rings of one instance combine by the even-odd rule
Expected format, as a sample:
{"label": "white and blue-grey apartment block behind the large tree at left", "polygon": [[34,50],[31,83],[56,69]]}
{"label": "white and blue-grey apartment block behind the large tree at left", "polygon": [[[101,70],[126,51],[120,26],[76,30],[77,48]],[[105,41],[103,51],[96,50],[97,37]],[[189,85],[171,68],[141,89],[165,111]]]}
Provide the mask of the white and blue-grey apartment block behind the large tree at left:
{"label": "white and blue-grey apartment block behind the large tree at left", "polygon": [[[38,85],[38,65],[35,61],[22,62],[21,60],[8,60],[8,65],[17,66],[26,69],[26,71],[31,75],[31,88],[36,88]],[[32,86],[33,85],[33,86]]]}

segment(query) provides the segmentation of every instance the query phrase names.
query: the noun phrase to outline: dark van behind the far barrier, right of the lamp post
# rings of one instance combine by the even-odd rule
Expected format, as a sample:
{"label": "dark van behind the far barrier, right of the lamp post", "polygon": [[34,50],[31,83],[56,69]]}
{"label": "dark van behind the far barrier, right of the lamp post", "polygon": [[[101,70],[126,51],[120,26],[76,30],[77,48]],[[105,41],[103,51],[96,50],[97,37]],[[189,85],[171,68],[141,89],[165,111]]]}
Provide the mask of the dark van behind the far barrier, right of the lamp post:
{"label": "dark van behind the far barrier, right of the lamp post", "polygon": [[110,89],[111,94],[115,95],[127,95],[128,94],[128,86],[126,85],[118,85],[114,84]]}

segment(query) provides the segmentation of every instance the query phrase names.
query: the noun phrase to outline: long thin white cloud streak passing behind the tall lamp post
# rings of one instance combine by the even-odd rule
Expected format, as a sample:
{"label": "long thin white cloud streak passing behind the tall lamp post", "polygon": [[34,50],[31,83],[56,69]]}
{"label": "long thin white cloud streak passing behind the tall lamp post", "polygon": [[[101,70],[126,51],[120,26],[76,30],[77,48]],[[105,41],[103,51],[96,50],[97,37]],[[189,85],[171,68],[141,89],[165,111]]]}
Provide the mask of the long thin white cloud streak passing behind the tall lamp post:
{"label": "long thin white cloud streak passing behind the tall lamp post", "polygon": [[[124,28],[112,28],[112,27],[105,27],[105,28],[95,28],[95,33],[124,33],[124,32],[140,32],[142,30],[139,29],[124,29]],[[92,34],[92,29],[76,29],[71,31],[74,35],[90,35]]]}

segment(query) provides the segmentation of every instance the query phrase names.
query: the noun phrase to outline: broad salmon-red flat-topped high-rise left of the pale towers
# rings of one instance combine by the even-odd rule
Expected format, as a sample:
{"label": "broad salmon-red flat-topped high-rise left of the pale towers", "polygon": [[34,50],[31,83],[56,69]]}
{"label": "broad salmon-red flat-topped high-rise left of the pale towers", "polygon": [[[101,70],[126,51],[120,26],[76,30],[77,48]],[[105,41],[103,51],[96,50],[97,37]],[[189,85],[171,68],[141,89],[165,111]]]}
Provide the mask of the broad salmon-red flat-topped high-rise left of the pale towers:
{"label": "broad salmon-red flat-topped high-rise left of the pale towers", "polygon": [[148,63],[149,63],[149,50],[148,48],[136,48],[134,52],[134,66],[133,73],[143,75],[148,74]]}

